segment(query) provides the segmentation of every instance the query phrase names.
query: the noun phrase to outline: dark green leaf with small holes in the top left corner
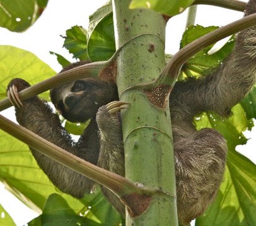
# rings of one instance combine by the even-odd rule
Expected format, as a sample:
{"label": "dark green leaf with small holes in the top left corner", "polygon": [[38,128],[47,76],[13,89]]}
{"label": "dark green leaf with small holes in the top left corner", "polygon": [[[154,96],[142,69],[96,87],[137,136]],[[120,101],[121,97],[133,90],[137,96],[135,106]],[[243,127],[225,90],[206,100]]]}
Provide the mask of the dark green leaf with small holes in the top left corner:
{"label": "dark green leaf with small holes in the top left corner", "polygon": [[0,26],[10,31],[25,31],[47,6],[48,0],[0,0]]}

